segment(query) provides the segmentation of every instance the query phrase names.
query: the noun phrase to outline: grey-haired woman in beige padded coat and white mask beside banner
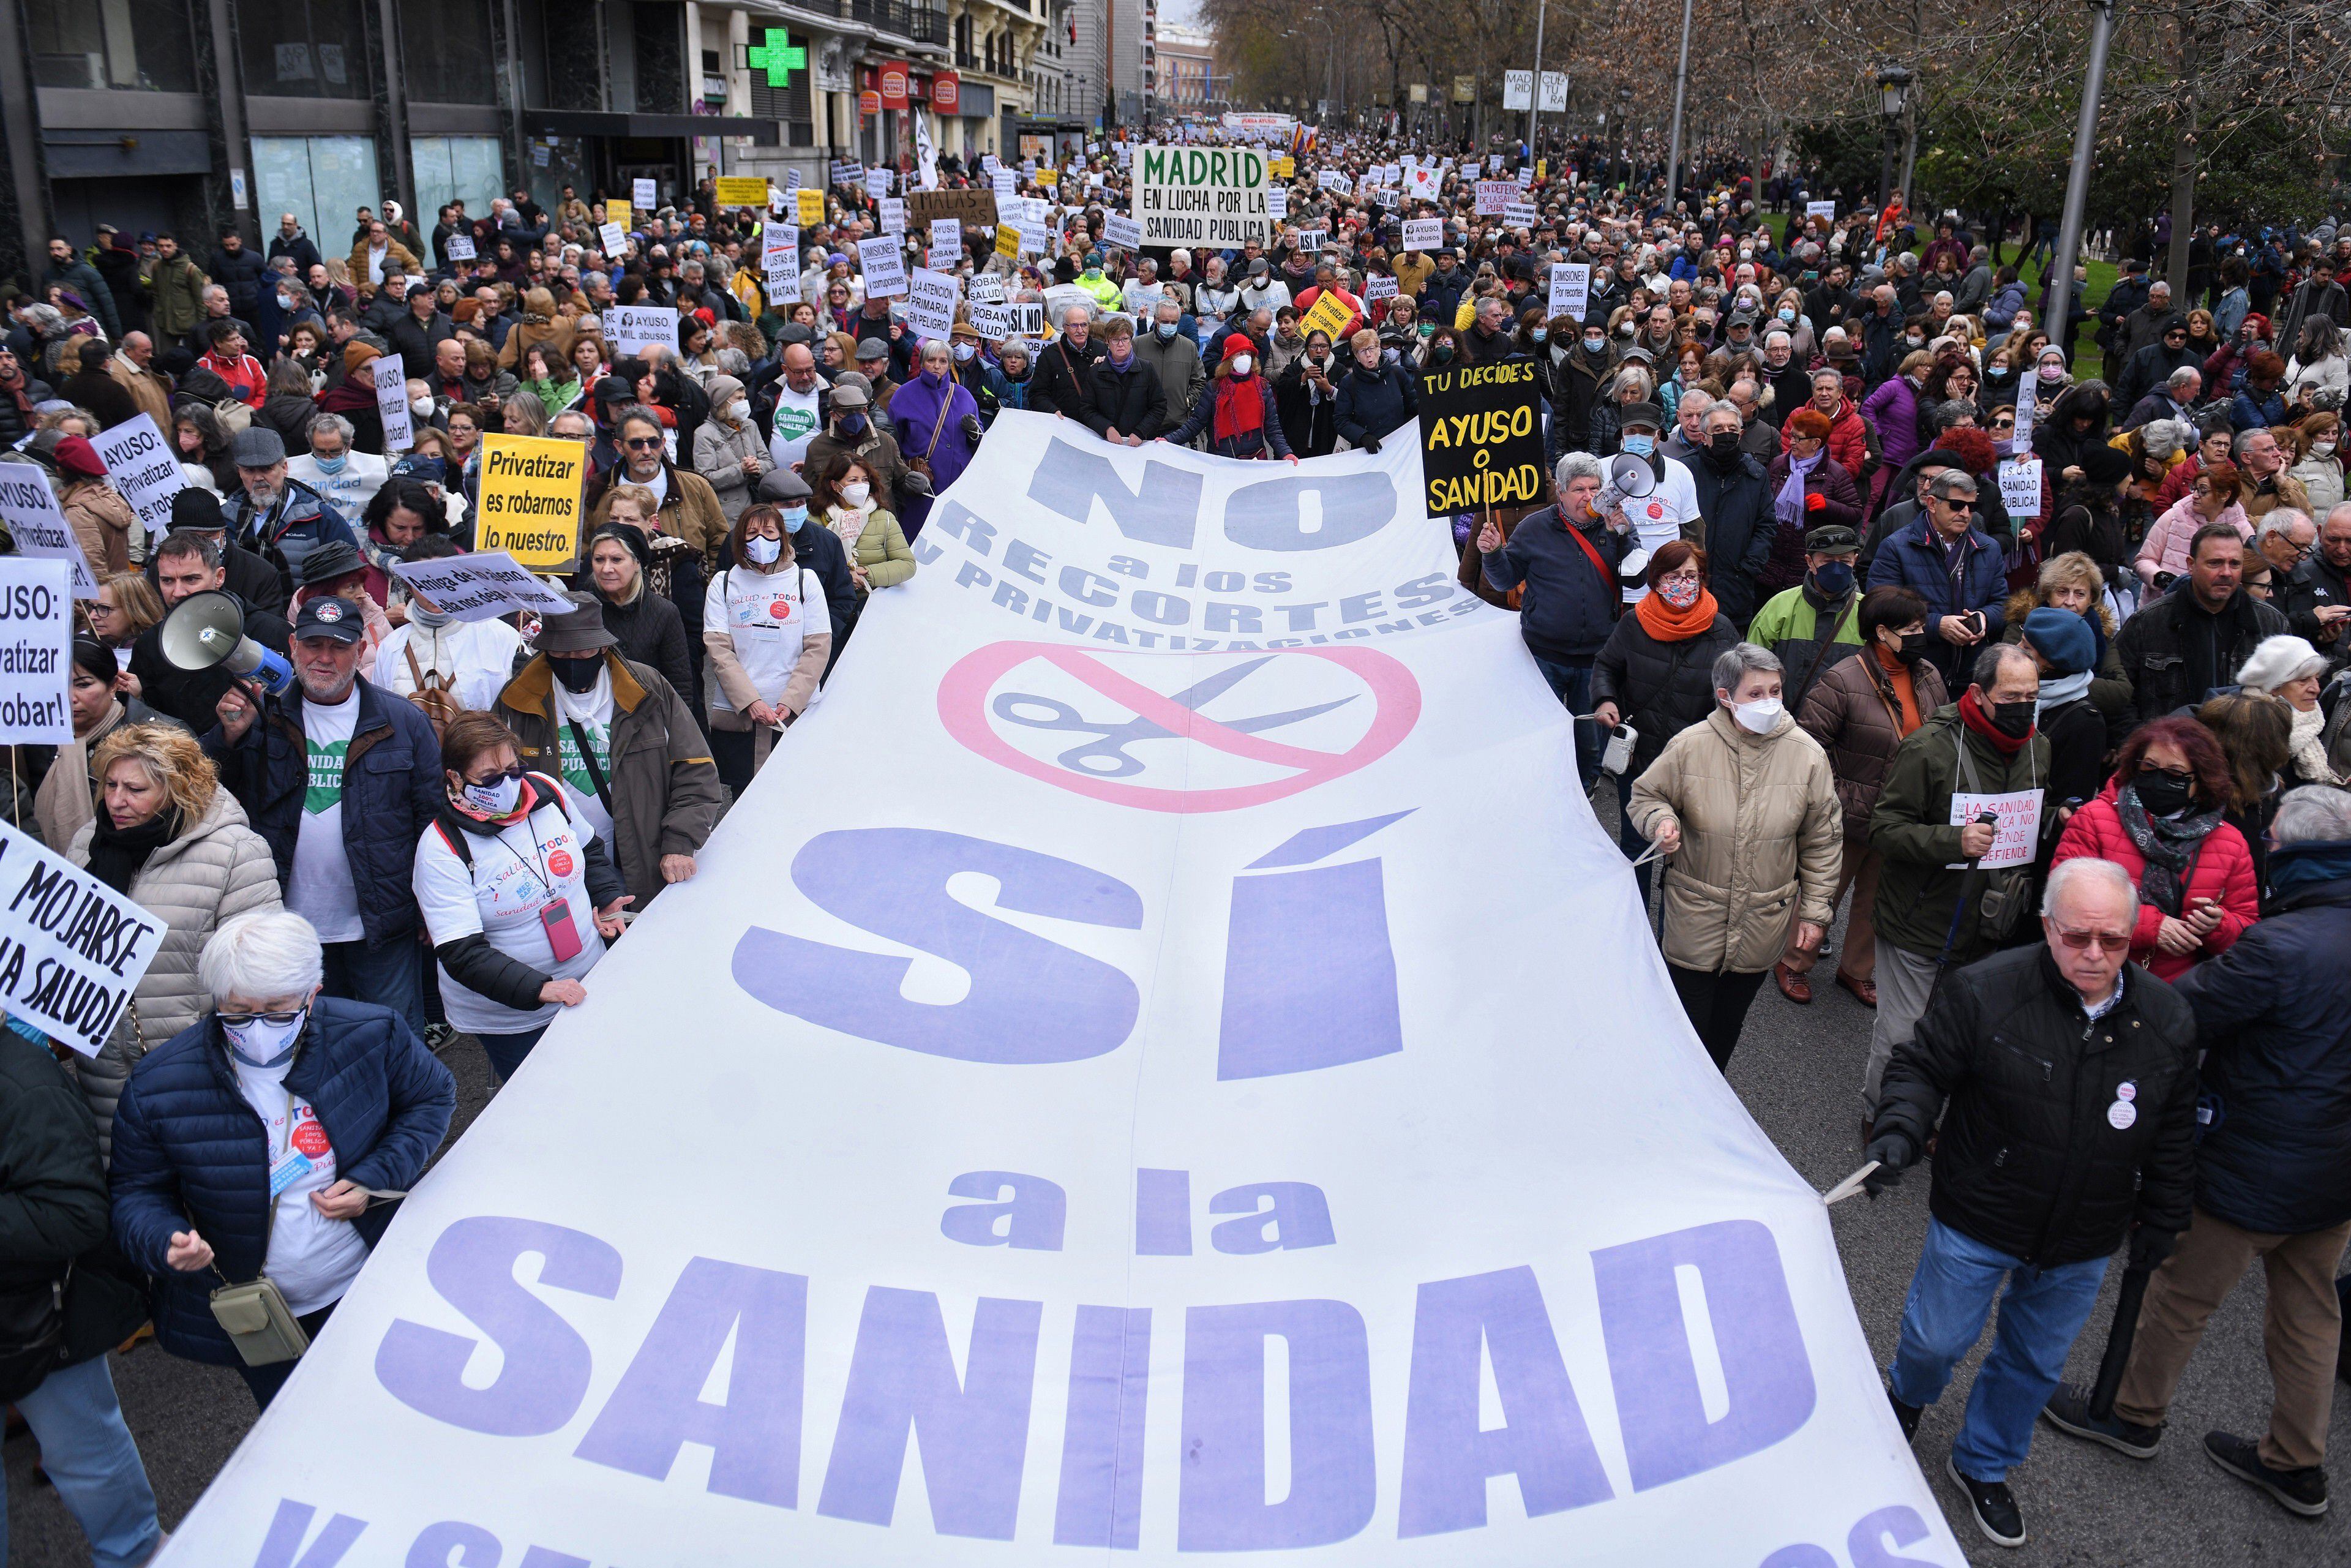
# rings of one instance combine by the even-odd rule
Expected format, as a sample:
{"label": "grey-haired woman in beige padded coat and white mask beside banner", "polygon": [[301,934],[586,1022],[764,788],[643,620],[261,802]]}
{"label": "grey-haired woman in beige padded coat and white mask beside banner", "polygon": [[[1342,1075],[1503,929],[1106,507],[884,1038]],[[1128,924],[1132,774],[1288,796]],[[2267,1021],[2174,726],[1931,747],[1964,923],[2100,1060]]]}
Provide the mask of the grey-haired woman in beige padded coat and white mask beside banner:
{"label": "grey-haired woman in beige padded coat and white mask beside banner", "polygon": [[1829,755],[1780,703],[1780,661],[1751,642],[1714,661],[1714,712],[1665,743],[1627,813],[1665,867],[1665,966],[1716,1067],[1796,917],[1820,947],[1843,816]]}

